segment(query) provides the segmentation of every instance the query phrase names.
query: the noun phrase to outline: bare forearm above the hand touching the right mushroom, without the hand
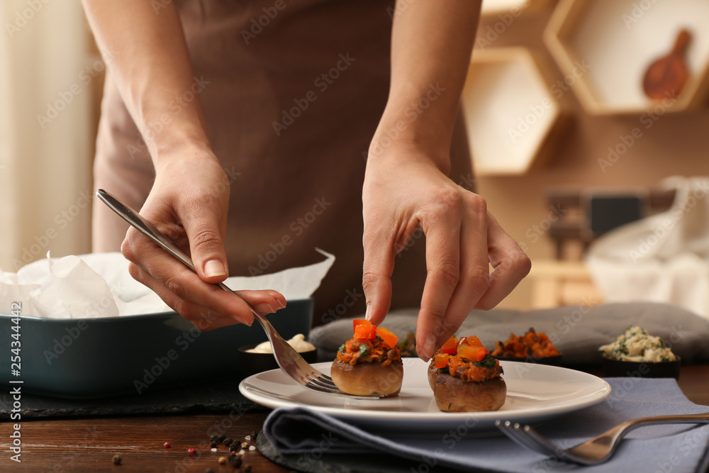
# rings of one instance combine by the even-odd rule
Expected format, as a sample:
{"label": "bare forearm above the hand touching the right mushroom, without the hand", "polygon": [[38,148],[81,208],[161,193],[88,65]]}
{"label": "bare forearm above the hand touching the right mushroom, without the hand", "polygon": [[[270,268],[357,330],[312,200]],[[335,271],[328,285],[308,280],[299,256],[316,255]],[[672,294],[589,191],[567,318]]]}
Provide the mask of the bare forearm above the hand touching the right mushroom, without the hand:
{"label": "bare forearm above the hand touching the right mushroom, without the hand", "polygon": [[413,141],[430,150],[441,169],[450,166],[450,140],[480,4],[481,0],[397,2],[391,89],[370,156],[382,154],[389,140]]}

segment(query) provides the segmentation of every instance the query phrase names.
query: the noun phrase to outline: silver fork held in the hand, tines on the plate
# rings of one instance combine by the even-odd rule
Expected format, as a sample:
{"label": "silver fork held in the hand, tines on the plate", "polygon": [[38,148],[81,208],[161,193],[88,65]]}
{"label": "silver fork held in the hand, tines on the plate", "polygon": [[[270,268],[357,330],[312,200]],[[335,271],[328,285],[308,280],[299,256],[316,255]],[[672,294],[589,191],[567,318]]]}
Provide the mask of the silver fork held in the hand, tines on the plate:
{"label": "silver fork held in the hand, tines on the plate", "polygon": [[[163,250],[176,257],[177,260],[183,262],[184,265],[189,267],[189,269],[195,271],[194,264],[192,263],[189,255],[175,245],[172,240],[163,235],[160,230],[152,225],[152,223],[145,220],[140,213],[123,204],[121,201],[116,199],[116,197],[104,191],[104,189],[99,189],[99,191],[96,192],[96,196],[98,196],[104,204],[111,208],[112,211],[116,212],[118,216],[121,216],[123,220],[130,223],[131,226],[140,231],[140,233],[143,233],[143,235],[147,236],[147,238],[150,238],[150,240],[157,243],[157,245],[162,247]],[[224,289],[225,291],[230,292],[231,294],[234,294],[242,299],[223,282],[216,284],[216,286],[219,286],[221,289]],[[291,345],[289,345],[289,343],[286,342],[281,335],[279,335],[276,329],[273,328],[273,325],[271,325],[262,313],[257,311],[256,308],[248,303],[248,301],[244,302],[250,308],[254,314],[254,317],[257,321],[259,321],[266,332],[269,342],[273,347],[273,355],[276,358],[276,362],[279,367],[281,367],[281,369],[288,374],[289,377],[298,382],[298,384],[302,384],[308,389],[313,389],[313,391],[318,391],[324,394],[336,394],[354,399],[379,399],[382,397],[376,394],[373,394],[372,396],[354,396],[352,394],[343,393],[340,389],[337,389],[337,386],[335,386],[335,383],[331,377],[313,368],[310,364],[308,364],[308,362],[306,362],[306,360],[303,360],[300,353],[296,352],[294,347],[291,347]]]}

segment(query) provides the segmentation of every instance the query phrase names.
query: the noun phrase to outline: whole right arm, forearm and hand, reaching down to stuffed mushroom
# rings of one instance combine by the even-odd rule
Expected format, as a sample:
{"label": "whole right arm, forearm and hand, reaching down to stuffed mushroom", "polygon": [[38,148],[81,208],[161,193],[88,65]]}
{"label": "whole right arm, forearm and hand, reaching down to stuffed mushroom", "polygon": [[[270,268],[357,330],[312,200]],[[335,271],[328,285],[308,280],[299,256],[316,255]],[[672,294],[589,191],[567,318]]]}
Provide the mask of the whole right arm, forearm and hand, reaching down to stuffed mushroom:
{"label": "whole right arm, forearm and hand, reaching down to stuffed mushroom", "polygon": [[531,263],[485,200],[446,177],[481,0],[399,3],[389,99],[364,174],[362,284],[367,318],[380,323],[391,304],[396,252],[423,229],[428,276],[416,351],[428,360],[472,308],[496,306]]}

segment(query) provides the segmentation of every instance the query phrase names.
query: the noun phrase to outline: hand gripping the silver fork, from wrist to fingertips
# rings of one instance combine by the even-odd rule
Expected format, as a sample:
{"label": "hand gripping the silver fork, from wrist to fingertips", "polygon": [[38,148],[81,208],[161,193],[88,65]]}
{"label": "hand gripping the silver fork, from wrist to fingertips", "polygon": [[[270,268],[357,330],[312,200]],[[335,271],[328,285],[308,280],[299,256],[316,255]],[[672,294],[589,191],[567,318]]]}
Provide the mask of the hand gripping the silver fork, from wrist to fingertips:
{"label": "hand gripping the silver fork, from wrist to fingertips", "polygon": [[[244,301],[218,288],[228,275],[224,250],[230,182],[213,153],[180,152],[160,160],[155,184],[140,213],[189,254],[197,274],[145,235],[130,228],[121,252],[130,275],[150,287],[200,330],[246,323],[254,316]],[[238,291],[262,313],[286,306],[277,291]]]}

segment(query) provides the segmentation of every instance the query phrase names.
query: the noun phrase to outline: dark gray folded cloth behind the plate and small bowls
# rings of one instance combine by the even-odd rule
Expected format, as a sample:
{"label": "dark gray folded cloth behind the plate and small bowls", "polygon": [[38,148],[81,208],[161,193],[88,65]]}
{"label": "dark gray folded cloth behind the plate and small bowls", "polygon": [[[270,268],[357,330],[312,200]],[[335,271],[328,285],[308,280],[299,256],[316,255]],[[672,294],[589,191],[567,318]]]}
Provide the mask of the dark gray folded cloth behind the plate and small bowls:
{"label": "dark gray folded cloth behind the plate and small bowls", "polygon": [[[392,311],[381,325],[406,337],[416,330],[417,309]],[[362,316],[364,318],[364,316]],[[595,307],[564,306],[536,311],[471,311],[459,335],[477,335],[492,349],[510,333],[523,335],[534,327],[546,333],[563,355],[564,365],[600,365],[598,347],[613,342],[630,325],[640,325],[661,337],[684,362],[709,360],[709,321],[672,304],[632,302]],[[337,348],[352,338],[352,319],[340,319],[314,328],[309,339],[318,347],[319,360],[334,360]]]}

